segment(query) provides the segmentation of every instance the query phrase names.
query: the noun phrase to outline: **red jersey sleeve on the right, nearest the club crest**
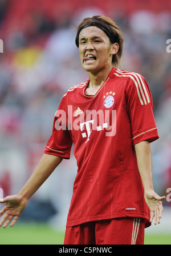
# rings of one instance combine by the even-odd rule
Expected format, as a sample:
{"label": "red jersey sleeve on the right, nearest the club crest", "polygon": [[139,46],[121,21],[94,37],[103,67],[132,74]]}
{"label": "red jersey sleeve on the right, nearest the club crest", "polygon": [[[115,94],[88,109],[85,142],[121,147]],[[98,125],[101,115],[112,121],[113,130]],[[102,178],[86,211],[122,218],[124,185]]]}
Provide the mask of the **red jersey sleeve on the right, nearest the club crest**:
{"label": "red jersey sleeve on the right, nearest the club crest", "polygon": [[145,78],[133,73],[126,89],[127,113],[131,122],[132,144],[143,140],[158,139],[158,131],[153,115],[153,102]]}

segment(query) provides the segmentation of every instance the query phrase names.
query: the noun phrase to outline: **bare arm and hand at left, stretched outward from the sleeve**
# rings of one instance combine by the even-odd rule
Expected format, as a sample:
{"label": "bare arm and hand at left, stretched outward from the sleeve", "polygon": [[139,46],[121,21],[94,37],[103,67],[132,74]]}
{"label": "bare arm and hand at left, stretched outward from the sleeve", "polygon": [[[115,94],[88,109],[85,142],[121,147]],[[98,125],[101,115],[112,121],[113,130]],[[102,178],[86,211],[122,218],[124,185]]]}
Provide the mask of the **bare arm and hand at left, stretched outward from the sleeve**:
{"label": "bare arm and hand at left, stretched outward from the sleeve", "polygon": [[10,227],[14,226],[18,217],[26,208],[28,199],[30,199],[38,188],[42,186],[62,160],[62,157],[44,154],[21,191],[19,191],[17,195],[6,196],[6,198],[0,200],[0,203],[6,203],[0,211],[0,216],[5,214],[0,221],[0,227],[4,223],[3,228],[5,228],[11,222],[13,217],[14,219],[11,222]]}

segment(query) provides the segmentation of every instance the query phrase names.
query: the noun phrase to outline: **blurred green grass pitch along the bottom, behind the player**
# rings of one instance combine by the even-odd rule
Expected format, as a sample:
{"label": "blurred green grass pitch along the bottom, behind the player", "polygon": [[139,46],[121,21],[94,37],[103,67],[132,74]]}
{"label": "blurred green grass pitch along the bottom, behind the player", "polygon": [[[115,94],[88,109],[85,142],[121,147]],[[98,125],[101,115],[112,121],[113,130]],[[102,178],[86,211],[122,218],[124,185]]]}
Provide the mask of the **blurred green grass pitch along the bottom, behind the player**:
{"label": "blurred green grass pitch along the bottom, behind the player", "polygon": [[[46,224],[16,223],[0,229],[0,245],[63,245],[64,232]],[[170,234],[145,235],[145,245],[171,245]]]}

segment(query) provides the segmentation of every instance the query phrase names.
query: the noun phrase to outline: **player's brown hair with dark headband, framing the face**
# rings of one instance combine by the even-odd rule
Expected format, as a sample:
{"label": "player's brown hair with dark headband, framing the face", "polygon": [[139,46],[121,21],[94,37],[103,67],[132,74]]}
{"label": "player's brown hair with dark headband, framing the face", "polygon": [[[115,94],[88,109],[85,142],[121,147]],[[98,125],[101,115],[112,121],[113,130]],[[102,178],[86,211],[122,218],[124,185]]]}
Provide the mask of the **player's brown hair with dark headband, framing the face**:
{"label": "player's brown hair with dark headband, framing the face", "polygon": [[112,64],[116,67],[120,65],[120,58],[123,54],[123,43],[124,38],[122,36],[122,33],[119,29],[119,27],[116,25],[115,22],[112,21],[111,18],[105,17],[103,15],[96,15],[92,18],[84,18],[83,21],[80,23],[80,25],[77,28],[77,34],[75,38],[75,44],[77,47],[79,47],[79,34],[82,29],[85,29],[89,26],[96,26],[99,27],[99,29],[103,30],[105,34],[107,34],[110,42],[112,44],[119,44],[119,50],[116,54],[112,57]]}

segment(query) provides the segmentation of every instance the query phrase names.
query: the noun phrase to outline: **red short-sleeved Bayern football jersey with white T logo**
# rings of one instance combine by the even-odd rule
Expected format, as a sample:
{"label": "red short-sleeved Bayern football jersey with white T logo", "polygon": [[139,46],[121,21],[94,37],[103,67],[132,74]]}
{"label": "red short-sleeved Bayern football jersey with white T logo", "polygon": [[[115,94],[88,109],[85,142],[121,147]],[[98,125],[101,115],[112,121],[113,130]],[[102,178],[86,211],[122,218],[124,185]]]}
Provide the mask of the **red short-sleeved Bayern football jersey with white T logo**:
{"label": "red short-sleeved Bayern football jersey with white T logo", "polygon": [[89,79],[73,86],[55,113],[45,153],[78,164],[67,226],[124,216],[149,224],[150,211],[133,145],[158,139],[152,96],[143,76],[112,68],[95,95]]}

